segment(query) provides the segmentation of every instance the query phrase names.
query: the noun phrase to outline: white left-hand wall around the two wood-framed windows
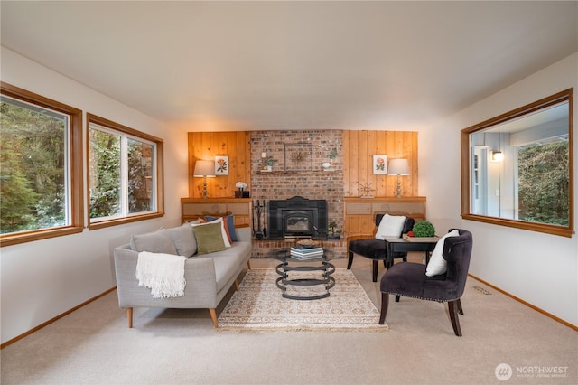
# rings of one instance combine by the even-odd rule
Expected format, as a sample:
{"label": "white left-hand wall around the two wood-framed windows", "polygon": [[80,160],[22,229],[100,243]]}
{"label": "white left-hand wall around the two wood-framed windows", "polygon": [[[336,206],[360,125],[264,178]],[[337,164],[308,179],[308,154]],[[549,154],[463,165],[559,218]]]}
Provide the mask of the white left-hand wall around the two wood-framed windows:
{"label": "white left-hand wall around the two wood-framed windows", "polygon": [[1,53],[2,81],[163,138],[165,192],[163,218],[101,230],[85,229],[75,235],[2,248],[1,330],[5,343],[116,286],[112,249],[126,243],[131,234],[179,224],[180,198],[188,196],[188,161],[186,133],[171,130],[4,47]]}

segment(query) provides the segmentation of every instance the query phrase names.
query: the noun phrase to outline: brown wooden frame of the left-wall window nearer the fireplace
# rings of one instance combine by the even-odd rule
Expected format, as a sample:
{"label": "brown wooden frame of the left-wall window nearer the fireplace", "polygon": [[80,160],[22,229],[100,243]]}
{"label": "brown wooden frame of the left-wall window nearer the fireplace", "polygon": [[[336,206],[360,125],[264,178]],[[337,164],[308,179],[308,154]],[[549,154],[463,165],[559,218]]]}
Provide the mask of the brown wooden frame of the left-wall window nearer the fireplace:
{"label": "brown wooden frame of the left-wall window nearer the fireplace", "polygon": [[[109,120],[105,117],[98,117],[97,115],[94,114],[90,114],[87,112],[87,122],[86,122],[86,137],[89,138],[89,130],[90,130],[90,124],[95,124],[98,125],[100,127],[104,127],[107,128],[109,130],[112,130],[113,132],[118,132],[121,134],[126,134],[128,136],[133,136],[136,139],[142,139],[144,141],[148,141],[148,142],[152,142],[154,143],[154,146],[156,146],[156,159],[155,159],[155,164],[156,164],[156,169],[155,169],[155,180],[156,180],[156,211],[146,211],[143,214],[129,214],[127,216],[122,216],[122,217],[114,217],[114,218],[110,218],[110,219],[106,219],[106,220],[99,220],[99,221],[92,221],[92,219],[90,218],[90,214],[89,214],[89,202],[90,202],[90,191],[89,188],[87,188],[87,193],[86,193],[86,200],[87,200],[87,205],[88,205],[88,214],[87,214],[87,221],[88,221],[88,228],[89,230],[98,230],[98,229],[103,229],[103,228],[107,228],[110,226],[117,226],[117,225],[121,225],[121,224],[125,224],[125,223],[130,223],[130,222],[135,222],[135,221],[145,221],[145,220],[150,220],[153,218],[158,218],[158,217],[162,217],[164,215],[164,174],[163,174],[163,170],[164,170],[164,166],[163,166],[163,139],[156,137],[156,136],[152,136],[152,135],[148,135],[145,134],[141,131],[135,130],[134,128],[130,128],[130,127],[126,127],[123,126],[119,123],[113,122],[112,120]],[[88,156],[90,154],[90,141],[87,139],[87,144],[86,144],[86,152],[87,152],[87,157],[86,157],[86,167],[85,169],[86,171],[86,180],[89,181],[89,170],[90,170],[90,156]],[[87,182],[88,183],[88,182]]]}

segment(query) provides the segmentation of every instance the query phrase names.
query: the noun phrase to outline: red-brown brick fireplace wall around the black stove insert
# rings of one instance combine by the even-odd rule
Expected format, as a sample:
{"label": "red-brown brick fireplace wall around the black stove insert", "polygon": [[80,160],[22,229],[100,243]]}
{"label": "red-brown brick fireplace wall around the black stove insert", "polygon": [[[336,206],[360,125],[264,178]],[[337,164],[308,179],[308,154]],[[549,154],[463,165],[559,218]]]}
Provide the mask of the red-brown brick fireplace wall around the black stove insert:
{"label": "red-brown brick fireplace wall around the black stove insert", "polygon": [[[308,227],[295,231],[325,233],[329,221],[335,221],[338,230],[343,229],[342,141],[343,131],[340,130],[251,132],[251,197],[266,202],[261,221],[267,230],[267,238],[255,242],[254,258],[266,257],[271,249],[294,245],[294,240],[284,240],[284,235],[279,233],[279,227],[284,226],[283,217],[281,221],[278,217],[273,221],[269,218],[270,202],[274,202],[275,210],[278,208],[277,202],[291,202],[294,197],[310,202],[326,202],[322,217],[318,218],[321,222],[315,223],[317,230]],[[292,152],[294,148],[297,150]],[[332,161],[331,171],[324,171],[322,164],[330,160],[333,149],[337,150],[338,155]],[[262,172],[264,153],[275,160],[271,172]],[[297,225],[301,223],[299,217],[310,215],[308,208],[302,209],[305,209],[301,210],[304,215],[297,215],[294,222]],[[324,241],[323,244],[331,249],[337,248],[336,257],[344,257],[345,248],[340,246],[341,243]]]}

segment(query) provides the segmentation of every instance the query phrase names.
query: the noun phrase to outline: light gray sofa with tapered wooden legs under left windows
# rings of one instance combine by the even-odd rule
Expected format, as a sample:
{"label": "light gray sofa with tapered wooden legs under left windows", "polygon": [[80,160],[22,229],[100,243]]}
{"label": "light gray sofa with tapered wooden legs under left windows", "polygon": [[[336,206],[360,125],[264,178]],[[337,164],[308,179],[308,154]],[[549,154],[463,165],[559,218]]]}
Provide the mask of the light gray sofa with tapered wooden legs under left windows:
{"label": "light gray sofa with tapered wooden legs under left windows", "polygon": [[[185,223],[179,228],[133,236],[131,243],[114,249],[118,305],[126,308],[128,327],[133,327],[134,307],[207,308],[213,325],[219,327],[215,308],[233,284],[238,288],[237,278],[243,269],[250,268],[251,229],[236,228],[235,236],[238,241],[230,248],[199,255],[191,225]],[[184,296],[153,298],[151,289],[138,286],[135,271],[139,251],[169,251],[188,257]]]}

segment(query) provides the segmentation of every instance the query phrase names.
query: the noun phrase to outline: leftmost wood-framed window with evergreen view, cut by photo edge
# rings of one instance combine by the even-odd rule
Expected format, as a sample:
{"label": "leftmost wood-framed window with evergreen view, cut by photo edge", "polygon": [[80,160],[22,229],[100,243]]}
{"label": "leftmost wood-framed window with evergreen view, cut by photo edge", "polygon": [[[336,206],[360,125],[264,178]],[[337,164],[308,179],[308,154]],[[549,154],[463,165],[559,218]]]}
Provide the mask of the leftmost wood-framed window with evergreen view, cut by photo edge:
{"label": "leftmost wood-framed window with evergreen view, cut by photo edge", "polygon": [[4,82],[0,91],[0,244],[81,232],[82,112]]}

